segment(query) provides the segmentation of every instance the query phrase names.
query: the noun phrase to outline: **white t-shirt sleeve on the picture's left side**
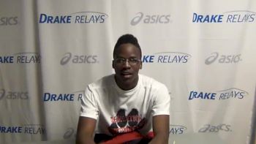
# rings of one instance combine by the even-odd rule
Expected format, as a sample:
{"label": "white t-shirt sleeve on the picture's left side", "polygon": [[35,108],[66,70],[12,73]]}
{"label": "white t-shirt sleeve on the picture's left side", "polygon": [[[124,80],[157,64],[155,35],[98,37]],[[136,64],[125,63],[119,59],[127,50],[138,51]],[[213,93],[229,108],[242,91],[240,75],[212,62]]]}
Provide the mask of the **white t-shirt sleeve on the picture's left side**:
{"label": "white t-shirt sleeve on the picture's left side", "polygon": [[99,116],[99,110],[97,107],[97,102],[93,92],[86,87],[81,100],[80,116],[89,117],[97,119]]}

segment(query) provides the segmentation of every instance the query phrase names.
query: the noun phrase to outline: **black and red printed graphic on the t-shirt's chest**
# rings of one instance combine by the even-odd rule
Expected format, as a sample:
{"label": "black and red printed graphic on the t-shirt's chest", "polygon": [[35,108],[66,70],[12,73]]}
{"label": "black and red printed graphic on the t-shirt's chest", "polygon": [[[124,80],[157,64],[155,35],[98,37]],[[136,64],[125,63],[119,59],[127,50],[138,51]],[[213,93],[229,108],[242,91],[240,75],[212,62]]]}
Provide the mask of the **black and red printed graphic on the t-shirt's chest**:
{"label": "black and red printed graphic on the t-shirt's chest", "polygon": [[146,124],[146,118],[141,118],[138,110],[133,108],[128,115],[125,115],[125,110],[118,110],[116,116],[111,119],[111,125],[108,127],[110,133],[123,134],[127,132],[134,132],[135,130],[141,129]]}

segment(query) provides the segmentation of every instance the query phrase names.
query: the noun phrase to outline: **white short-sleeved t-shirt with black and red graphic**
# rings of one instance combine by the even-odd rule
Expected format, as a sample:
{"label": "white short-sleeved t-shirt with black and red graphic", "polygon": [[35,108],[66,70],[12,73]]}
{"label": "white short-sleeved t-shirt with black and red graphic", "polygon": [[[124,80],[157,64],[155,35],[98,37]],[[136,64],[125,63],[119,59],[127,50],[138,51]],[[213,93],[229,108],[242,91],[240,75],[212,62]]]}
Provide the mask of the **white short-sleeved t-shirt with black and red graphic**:
{"label": "white short-sleeved t-shirt with black and red graphic", "polygon": [[124,91],[108,75],[87,86],[80,116],[97,119],[95,133],[122,134],[152,131],[152,116],[170,115],[170,96],[166,86],[139,74],[138,84]]}

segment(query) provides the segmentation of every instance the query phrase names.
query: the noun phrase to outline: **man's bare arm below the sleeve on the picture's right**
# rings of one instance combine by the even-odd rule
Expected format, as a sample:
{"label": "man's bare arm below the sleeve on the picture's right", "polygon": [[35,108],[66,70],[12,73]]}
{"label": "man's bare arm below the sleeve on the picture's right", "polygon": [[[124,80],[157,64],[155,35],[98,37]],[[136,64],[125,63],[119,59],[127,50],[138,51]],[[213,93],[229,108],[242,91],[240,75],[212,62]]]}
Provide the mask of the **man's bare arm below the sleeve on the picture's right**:
{"label": "man's bare arm below the sleeve on the picture's right", "polygon": [[155,115],[153,117],[154,138],[150,144],[168,144],[169,140],[169,115]]}

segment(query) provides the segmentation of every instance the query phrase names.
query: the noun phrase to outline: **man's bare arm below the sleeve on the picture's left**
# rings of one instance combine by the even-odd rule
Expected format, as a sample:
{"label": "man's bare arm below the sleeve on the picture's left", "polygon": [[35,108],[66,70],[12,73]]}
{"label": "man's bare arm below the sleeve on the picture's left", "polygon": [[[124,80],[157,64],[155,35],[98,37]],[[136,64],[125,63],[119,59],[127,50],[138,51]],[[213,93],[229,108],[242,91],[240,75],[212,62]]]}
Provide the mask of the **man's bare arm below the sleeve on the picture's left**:
{"label": "man's bare arm below the sleeve on the picture's left", "polygon": [[94,144],[94,129],[97,120],[80,116],[78,121],[77,144]]}

